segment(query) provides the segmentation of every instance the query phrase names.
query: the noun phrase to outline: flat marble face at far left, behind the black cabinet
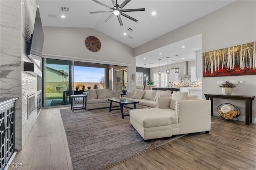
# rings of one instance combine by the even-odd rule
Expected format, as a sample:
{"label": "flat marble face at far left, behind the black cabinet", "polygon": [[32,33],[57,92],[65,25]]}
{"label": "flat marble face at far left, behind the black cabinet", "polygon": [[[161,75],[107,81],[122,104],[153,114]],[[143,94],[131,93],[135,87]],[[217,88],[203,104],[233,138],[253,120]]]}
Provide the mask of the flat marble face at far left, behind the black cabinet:
{"label": "flat marble face at far left, behind the black cabinet", "polygon": [[0,0],[0,97],[18,97],[15,148],[22,148],[21,1]]}

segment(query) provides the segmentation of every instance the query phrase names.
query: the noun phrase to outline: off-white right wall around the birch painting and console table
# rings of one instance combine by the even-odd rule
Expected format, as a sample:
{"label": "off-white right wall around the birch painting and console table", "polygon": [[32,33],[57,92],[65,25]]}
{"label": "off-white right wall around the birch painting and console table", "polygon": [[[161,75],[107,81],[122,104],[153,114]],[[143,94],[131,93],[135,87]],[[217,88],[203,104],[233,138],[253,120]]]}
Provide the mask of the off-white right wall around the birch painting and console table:
{"label": "off-white right wall around the birch painting and console table", "polygon": [[[134,49],[134,56],[158,49],[176,41],[202,33],[202,53],[256,41],[256,1],[236,1],[174,31],[166,33]],[[221,94],[217,80],[244,80],[233,94],[256,96],[256,75],[202,78],[202,94]],[[203,96],[204,98],[204,96]],[[231,102],[241,109],[244,119],[245,102],[214,99],[214,110],[218,105]],[[253,100],[253,121],[256,123],[256,100]],[[239,117],[238,117],[239,118]]]}

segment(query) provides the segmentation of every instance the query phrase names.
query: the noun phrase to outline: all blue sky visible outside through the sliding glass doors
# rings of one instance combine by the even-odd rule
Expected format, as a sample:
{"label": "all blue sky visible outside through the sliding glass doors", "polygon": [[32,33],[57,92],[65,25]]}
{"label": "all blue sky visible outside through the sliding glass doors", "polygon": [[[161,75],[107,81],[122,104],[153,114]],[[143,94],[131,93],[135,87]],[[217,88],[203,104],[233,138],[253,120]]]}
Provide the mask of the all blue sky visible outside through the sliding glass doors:
{"label": "all blue sky visible outside through the sliding glass doors", "polygon": [[[47,64],[48,67],[68,72],[67,65]],[[105,75],[104,68],[74,66],[74,82],[100,82],[101,76]]]}

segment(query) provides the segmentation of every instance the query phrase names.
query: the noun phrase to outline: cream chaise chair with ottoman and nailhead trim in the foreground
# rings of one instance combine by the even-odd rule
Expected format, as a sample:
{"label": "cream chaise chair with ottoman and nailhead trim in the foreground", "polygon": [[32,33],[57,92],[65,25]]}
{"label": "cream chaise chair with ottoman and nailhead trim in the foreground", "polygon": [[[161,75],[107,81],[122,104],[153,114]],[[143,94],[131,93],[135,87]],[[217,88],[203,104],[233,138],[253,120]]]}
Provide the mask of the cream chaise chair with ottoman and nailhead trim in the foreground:
{"label": "cream chaise chair with ottoman and nailhead trim in the foreground", "polygon": [[187,95],[185,100],[158,97],[155,108],[130,110],[130,123],[145,141],[186,133],[209,133],[211,102],[197,99],[195,95]]}

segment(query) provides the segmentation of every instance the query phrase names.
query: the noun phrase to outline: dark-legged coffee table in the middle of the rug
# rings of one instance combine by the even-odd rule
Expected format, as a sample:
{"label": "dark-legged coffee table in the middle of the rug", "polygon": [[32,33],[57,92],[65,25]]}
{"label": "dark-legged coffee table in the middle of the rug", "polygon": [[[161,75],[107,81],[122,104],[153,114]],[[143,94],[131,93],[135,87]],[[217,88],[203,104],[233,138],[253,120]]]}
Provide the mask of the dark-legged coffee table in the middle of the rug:
{"label": "dark-legged coffee table in the middle of the rug", "polygon": [[[120,99],[108,99],[108,101],[110,101],[109,112],[111,112],[112,110],[121,110],[122,118],[123,119],[124,119],[124,116],[128,116],[129,115],[129,114],[124,115],[123,108],[126,107],[125,105],[133,104],[134,105],[134,109],[137,109],[136,104],[140,103],[138,101],[128,100],[128,99],[124,99],[124,101],[122,101]],[[120,104],[120,108],[112,109],[112,102]],[[128,107],[128,108],[130,108],[130,107]]]}

